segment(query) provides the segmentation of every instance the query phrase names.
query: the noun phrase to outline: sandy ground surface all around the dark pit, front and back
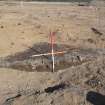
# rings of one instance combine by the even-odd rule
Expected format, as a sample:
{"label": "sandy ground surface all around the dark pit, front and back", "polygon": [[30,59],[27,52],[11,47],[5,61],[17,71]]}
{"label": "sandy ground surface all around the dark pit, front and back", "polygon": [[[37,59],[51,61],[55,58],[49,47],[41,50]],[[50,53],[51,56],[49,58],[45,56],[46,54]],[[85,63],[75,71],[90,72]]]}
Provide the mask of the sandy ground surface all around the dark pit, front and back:
{"label": "sandy ground surface all around the dark pit, front and back", "polygon": [[[104,49],[105,7],[0,3],[0,57],[49,42],[50,31],[58,44]],[[105,105],[104,70],[104,55],[55,73],[0,68],[0,105]]]}

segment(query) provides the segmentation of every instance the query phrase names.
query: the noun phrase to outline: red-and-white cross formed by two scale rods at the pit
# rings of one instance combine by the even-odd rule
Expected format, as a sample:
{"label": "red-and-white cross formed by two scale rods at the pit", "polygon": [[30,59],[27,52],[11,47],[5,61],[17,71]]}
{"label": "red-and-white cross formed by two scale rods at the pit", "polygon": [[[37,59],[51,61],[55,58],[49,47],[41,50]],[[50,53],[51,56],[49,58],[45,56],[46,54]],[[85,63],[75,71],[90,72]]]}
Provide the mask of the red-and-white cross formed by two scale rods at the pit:
{"label": "red-and-white cross formed by two scale rods at the pit", "polygon": [[54,52],[54,43],[55,43],[55,32],[50,32],[50,42],[51,42],[51,53],[44,53],[44,54],[36,54],[32,55],[32,57],[38,57],[38,56],[44,56],[44,55],[51,55],[52,57],[52,71],[54,72],[55,70],[55,55],[57,54],[63,54],[66,53],[67,51],[58,51]]}

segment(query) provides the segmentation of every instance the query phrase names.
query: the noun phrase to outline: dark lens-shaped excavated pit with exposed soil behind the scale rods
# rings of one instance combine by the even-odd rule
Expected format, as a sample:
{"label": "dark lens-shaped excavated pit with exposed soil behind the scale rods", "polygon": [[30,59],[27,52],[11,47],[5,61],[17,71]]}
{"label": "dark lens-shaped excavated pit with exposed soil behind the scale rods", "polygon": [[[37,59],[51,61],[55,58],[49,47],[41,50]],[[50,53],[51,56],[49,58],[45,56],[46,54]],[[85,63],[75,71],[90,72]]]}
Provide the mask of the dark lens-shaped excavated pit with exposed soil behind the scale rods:
{"label": "dark lens-shaped excavated pit with exposed soil behind the scale rods", "polygon": [[[55,44],[54,47],[55,52],[67,51],[64,54],[55,55],[55,71],[94,60],[97,57],[104,55],[105,52],[100,49],[73,48],[63,44]],[[51,52],[51,46],[49,43],[38,43],[24,52],[0,58],[0,67],[25,71],[50,72],[52,71],[51,55],[32,57],[32,55],[48,52]]]}

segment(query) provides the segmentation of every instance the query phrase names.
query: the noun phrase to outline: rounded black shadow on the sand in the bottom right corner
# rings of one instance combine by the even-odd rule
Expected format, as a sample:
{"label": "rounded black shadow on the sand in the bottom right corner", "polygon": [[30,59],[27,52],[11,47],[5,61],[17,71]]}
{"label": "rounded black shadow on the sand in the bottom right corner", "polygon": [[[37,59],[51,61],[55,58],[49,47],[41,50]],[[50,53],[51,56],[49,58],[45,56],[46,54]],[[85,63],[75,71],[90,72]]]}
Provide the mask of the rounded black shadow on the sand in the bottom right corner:
{"label": "rounded black shadow on the sand in the bottom right corner", "polygon": [[86,100],[93,105],[105,105],[105,96],[97,92],[88,92]]}

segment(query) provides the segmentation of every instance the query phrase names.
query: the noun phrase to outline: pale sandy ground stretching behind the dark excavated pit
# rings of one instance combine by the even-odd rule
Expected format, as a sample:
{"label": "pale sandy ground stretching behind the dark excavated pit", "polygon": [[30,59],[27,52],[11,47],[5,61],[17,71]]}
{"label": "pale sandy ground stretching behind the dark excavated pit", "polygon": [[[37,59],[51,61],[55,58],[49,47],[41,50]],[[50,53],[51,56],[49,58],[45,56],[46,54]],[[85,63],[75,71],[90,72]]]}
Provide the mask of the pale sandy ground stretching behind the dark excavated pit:
{"label": "pale sandy ground stretching behind the dark excavated pit", "polygon": [[[9,55],[37,42],[49,42],[50,31],[58,30],[59,43],[104,48],[104,7],[70,5],[0,6],[0,56]],[[92,40],[92,41],[89,41]]]}

